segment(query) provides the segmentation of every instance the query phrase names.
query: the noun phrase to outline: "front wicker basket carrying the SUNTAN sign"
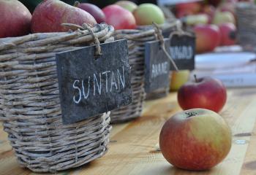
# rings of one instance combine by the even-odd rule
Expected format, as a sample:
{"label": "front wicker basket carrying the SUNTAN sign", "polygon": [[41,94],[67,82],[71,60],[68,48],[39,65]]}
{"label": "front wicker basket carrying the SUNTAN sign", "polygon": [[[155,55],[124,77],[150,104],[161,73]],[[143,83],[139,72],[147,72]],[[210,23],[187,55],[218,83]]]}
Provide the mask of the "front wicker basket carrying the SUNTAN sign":
{"label": "front wicker basket carrying the SUNTAN sign", "polygon": [[[91,29],[100,42],[113,39],[111,26]],[[55,54],[93,43],[89,30],[0,39],[0,120],[20,166],[56,172],[107,151],[109,112],[71,125],[61,120]]]}

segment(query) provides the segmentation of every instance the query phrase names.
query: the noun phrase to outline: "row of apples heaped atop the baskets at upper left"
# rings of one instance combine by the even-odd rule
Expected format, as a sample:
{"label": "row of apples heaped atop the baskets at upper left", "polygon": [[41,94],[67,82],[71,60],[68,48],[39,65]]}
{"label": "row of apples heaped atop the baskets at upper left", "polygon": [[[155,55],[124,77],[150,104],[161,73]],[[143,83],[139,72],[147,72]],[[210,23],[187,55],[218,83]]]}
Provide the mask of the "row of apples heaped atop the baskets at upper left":
{"label": "row of apples heaped atop the baskets at upper left", "polygon": [[137,26],[162,24],[165,16],[154,4],[118,1],[103,9],[94,4],[75,2],[73,6],[59,0],[44,0],[31,14],[18,0],[0,1],[0,37],[23,36],[38,32],[61,32],[70,28],[62,23],[83,25],[108,23],[115,29],[134,29]]}

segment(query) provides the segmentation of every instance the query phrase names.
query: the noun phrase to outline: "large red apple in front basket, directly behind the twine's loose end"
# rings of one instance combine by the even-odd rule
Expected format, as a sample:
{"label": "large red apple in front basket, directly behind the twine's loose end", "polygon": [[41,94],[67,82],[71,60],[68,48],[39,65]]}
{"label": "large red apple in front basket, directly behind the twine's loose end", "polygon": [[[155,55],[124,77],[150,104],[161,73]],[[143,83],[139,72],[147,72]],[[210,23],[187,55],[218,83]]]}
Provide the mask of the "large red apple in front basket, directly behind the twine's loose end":
{"label": "large red apple in front basket, directly behind the twine's loose end", "polygon": [[60,32],[69,31],[70,28],[61,26],[61,23],[83,25],[96,24],[96,20],[89,12],[73,7],[59,0],[45,0],[34,9],[31,20],[31,31]]}

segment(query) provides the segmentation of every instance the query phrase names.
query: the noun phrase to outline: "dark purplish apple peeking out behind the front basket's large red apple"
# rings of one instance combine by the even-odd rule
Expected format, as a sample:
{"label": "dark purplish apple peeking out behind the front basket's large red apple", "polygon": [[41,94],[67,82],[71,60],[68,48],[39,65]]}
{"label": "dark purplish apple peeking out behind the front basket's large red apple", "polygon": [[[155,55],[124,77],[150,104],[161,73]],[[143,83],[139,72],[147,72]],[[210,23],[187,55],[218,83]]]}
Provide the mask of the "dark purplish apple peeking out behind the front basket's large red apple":
{"label": "dark purplish apple peeking out behind the front basket's large red apple", "polygon": [[104,12],[102,12],[102,9],[99,9],[99,7],[97,7],[96,5],[89,3],[79,3],[78,1],[76,1],[75,7],[89,12],[89,14],[91,14],[95,18],[97,23],[105,23],[105,14]]}

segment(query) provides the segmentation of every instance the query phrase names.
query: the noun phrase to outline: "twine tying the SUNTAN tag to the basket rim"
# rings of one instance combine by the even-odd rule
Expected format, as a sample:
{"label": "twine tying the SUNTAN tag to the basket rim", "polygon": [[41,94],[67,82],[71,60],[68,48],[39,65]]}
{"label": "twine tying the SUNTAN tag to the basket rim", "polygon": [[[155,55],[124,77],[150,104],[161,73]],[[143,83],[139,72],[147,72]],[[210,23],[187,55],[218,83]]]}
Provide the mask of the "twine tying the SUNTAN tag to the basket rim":
{"label": "twine tying the SUNTAN tag to the basket rim", "polygon": [[78,30],[88,30],[91,33],[91,36],[94,39],[94,43],[96,44],[96,51],[95,51],[95,55],[102,55],[102,49],[100,47],[100,42],[99,42],[99,38],[97,36],[97,34],[94,33],[94,31],[91,29],[92,26],[86,23],[83,23],[82,26],[79,26],[77,24],[72,24],[72,23],[62,23],[62,26],[67,26],[69,28],[78,28]]}

